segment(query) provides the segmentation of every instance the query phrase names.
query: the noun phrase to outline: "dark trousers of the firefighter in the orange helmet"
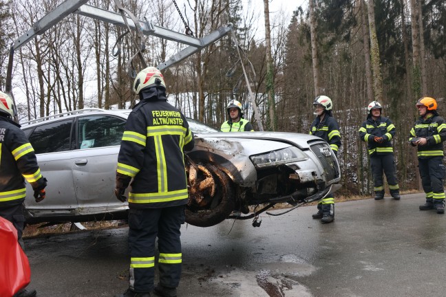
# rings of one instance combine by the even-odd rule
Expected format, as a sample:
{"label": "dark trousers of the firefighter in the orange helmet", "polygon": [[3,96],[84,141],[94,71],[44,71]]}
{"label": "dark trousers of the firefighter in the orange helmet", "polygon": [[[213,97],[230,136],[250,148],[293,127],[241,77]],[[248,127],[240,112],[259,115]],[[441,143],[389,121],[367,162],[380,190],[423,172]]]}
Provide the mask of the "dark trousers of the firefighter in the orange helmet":
{"label": "dark trousers of the firefighter in the orange helmet", "polygon": [[443,179],[445,178],[443,156],[429,157],[428,159],[418,158],[418,168],[426,198],[429,201],[432,199],[434,204],[443,203],[445,199],[445,190],[443,189]]}

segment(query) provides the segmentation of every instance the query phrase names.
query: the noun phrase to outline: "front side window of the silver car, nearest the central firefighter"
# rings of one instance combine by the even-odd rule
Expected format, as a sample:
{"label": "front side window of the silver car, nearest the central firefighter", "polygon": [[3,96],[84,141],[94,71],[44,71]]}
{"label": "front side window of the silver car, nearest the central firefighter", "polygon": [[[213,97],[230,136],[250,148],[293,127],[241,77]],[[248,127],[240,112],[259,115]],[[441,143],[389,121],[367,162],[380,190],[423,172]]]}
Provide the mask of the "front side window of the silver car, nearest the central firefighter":
{"label": "front side window of the silver car, nearest the central firefighter", "polygon": [[125,120],[109,115],[89,115],[78,118],[78,148],[119,145]]}

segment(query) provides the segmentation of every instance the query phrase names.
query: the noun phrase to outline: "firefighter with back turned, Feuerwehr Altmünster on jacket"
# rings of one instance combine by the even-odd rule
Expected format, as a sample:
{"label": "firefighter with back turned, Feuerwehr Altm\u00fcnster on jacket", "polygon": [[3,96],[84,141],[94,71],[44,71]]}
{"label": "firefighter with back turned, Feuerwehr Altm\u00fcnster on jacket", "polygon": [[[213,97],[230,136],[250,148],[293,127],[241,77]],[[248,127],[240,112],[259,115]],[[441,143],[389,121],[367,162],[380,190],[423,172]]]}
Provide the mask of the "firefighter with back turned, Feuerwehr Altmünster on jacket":
{"label": "firefighter with back turned, Feuerwehr Altm\u00fcnster on jacket", "polygon": [[181,275],[180,226],[188,201],[184,153],[193,134],[184,115],[167,102],[164,78],[155,67],[134,81],[140,102],[129,114],[118,155],[115,195],[125,201],[129,186],[129,289],[124,297],[153,290],[158,236],[160,283],[155,292],[176,296]]}

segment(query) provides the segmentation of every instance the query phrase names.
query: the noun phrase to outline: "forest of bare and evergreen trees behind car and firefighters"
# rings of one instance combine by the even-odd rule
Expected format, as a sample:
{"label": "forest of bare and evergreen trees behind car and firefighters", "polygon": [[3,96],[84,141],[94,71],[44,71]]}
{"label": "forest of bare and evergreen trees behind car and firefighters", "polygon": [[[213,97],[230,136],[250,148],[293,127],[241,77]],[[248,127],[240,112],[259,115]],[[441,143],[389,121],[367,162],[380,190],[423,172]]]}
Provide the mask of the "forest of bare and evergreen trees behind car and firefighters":
{"label": "forest of bare and evergreen trees behind car and firefighters", "polygon": [[[10,45],[62,2],[0,0],[0,89],[5,89]],[[173,1],[122,2],[138,19],[184,32]],[[370,195],[368,155],[358,129],[368,103],[377,100],[396,126],[400,188],[418,189],[416,151],[407,138],[421,96],[436,98],[440,115],[445,110],[446,1],[308,0],[292,13],[274,17],[268,10],[258,13],[258,6],[263,4],[264,12],[268,0],[257,2],[187,0],[179,5],[195,37],[232,23],[242,58],[235,40],[226,36],[164,70],[169,102],[190,118],[218,128],[226,120],[226,104],[237,99],[257,130],[242,63],[266,131],[308,133],[315,96],[329,96],[343,142],[338,154],[342,192]],[[243,7],[246,3],[248,9]],[[88,4],[118,11],[113,0]],[[259,17],[265,19],[265,30],[258,28]],[[121,109],[135,104],[133,79],[126,69],[135,52],[131,34],[123,39],[121,54],[111,54],[123,31],[70,14],[21,47],[13,69],[14,95],[25,98],[17,104],[21,122],[87,107]],[[184,45],[149,36],[146,47],[146,61],[158,65]],[[135,68],[141,69],[138,62]]]}

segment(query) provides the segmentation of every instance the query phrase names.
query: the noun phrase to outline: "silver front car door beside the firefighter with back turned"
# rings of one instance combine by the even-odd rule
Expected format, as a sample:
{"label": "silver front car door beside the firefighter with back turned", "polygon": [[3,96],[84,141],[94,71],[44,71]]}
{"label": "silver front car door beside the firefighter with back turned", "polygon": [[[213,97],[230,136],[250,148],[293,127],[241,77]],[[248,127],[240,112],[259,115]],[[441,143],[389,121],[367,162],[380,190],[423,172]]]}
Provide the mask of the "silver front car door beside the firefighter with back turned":
{"label": "silver front car door beside the firefighter with back turned", "polygon": [[81,214],[127,208],[114,196],[116,166],[125,119],[114,115],[85,115],[76,123],[73,179]]}

